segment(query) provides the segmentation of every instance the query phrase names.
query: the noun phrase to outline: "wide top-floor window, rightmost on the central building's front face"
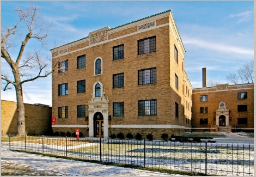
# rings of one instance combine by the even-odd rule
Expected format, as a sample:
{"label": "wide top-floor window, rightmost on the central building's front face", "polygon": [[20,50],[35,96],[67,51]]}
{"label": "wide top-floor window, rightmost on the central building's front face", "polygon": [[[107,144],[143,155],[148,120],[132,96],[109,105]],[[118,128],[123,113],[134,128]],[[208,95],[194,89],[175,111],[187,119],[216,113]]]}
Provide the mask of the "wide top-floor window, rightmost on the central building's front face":
{"label": "wide top-floor window, rightmost on the central building's front face", "polygon": [[156,36],[138,40],[138,54],[156,51]]}

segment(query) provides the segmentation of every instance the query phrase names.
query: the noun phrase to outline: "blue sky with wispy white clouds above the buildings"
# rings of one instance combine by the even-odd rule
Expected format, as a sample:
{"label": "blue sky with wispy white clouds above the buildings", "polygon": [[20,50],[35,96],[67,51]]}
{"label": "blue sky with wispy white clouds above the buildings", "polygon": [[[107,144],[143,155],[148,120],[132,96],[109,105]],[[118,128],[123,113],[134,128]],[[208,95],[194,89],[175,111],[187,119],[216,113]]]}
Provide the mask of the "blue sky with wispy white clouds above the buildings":
{"label": "blue sky with wispy white clouds above the buildings", "polygon": [[[17,22],[16,7],[26,8],[31,2],[38,6],[42,20],[51,24],[46,48],[36,40],[26,48],[40,48],[42,57],[51,56],[50,49],[56,43],[76,41],[94,30],[172,9],[186,50],[185,71],[193,88],[202,87],[202,68],[206,68],[207,81],[228,83],[226,75],[253,60],[253,1],[2,1],[2,29]],[[19,46],[19,42],[15,44]],[[10,51],[13,58],[17,46]],[[5,71],[10,69],[1,59],[1,72]],[[51,76],[24,84],[24,102],[52,106],[51,88]],[[1,90],[1,99],[16,101],[14,89]]]}

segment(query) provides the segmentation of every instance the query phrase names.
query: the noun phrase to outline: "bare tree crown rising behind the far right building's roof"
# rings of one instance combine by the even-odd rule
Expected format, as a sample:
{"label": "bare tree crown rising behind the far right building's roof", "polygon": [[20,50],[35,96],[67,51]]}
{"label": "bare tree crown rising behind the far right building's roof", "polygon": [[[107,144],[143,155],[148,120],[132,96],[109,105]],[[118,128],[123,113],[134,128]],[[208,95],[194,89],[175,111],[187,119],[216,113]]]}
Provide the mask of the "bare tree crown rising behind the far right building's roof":
{"label": "bare tree crown rising behind the far right building's roof", "polygon": [[237,74],[229,73],[229,75],[226,76],[226,79],[233,84],[253,83],[253,60],[243,64],[242,68],[237,70]]}

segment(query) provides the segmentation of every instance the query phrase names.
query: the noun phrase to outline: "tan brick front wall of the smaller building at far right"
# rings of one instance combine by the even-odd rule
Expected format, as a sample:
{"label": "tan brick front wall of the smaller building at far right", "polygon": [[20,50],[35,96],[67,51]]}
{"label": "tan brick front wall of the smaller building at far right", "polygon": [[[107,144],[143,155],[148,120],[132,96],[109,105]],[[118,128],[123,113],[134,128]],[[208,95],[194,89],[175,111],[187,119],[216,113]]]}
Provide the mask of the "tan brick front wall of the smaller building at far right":
{"label": "tan brick front wall of the smaller building at far right", "polygon": [[[238,99],[238,93],[247,93],[247,98]],[[208,101],[200,101],[200,96],[207,95]],[[220,126],[231,127],[232,131],[253,131],[254,127],[254,84],[228,85],[193,89],[192,126],[195,131],[220,131]],[[223,102],[224,108],[220,109]],[[239,110],[239,105],[246,105],[247,110]],[[200,107],[208,107],[208,113],[200,113]],[[202,109],[201,108],[201,109]],[[221,119],[224,118],[224,122]],[[200,119],[208,119],[208,124],[200,124]],[[239,122],[246,118],[246,122]],[[245,120],[245,119],[244,119]],[[223,125],[221,125],[221,123]]]}

